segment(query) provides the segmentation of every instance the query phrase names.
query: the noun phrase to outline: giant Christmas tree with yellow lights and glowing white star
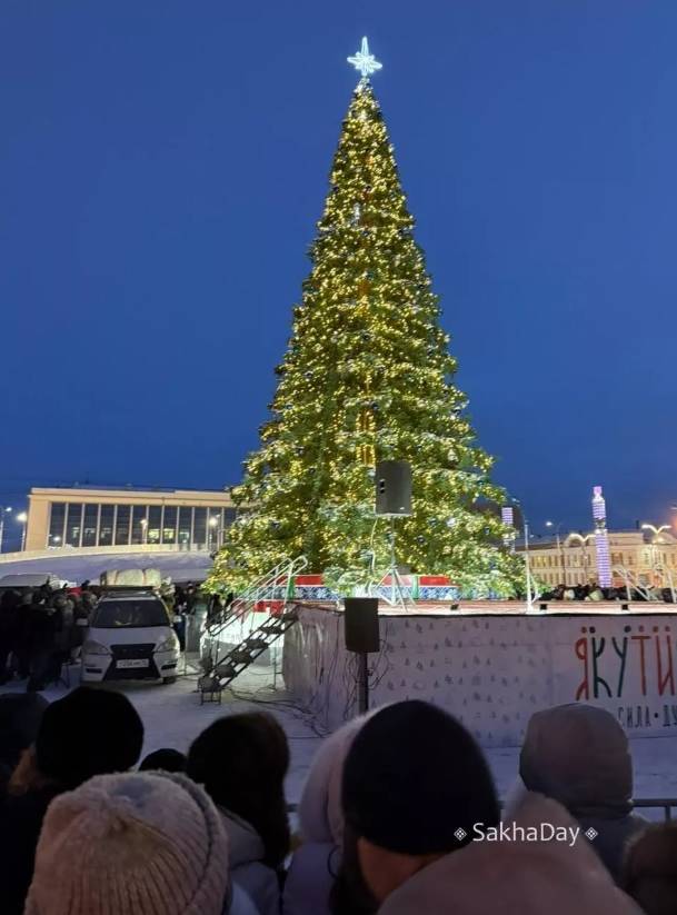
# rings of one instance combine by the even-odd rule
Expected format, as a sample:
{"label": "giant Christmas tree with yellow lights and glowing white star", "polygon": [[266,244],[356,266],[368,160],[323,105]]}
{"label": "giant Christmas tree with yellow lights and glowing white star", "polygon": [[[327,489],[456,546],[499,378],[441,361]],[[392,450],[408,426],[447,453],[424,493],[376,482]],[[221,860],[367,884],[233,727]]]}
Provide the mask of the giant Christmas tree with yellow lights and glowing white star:
{"label": "giant Christmas tree with yellow lights and glowing white star", "polygon": [[504,493],[451,384],[456,360],[414,239],[379,105],[362,72],[310,250],[312,269],[258,451],[233,489],[247,507],[208,586],[238,588],[285,556],[329,579],[364,581],[388,566],[388,523],[375,517],[375,466],[412,467],[414,514],[397,521],[397,558],[476,593],[507,594],[515,557],[501,548]]}

